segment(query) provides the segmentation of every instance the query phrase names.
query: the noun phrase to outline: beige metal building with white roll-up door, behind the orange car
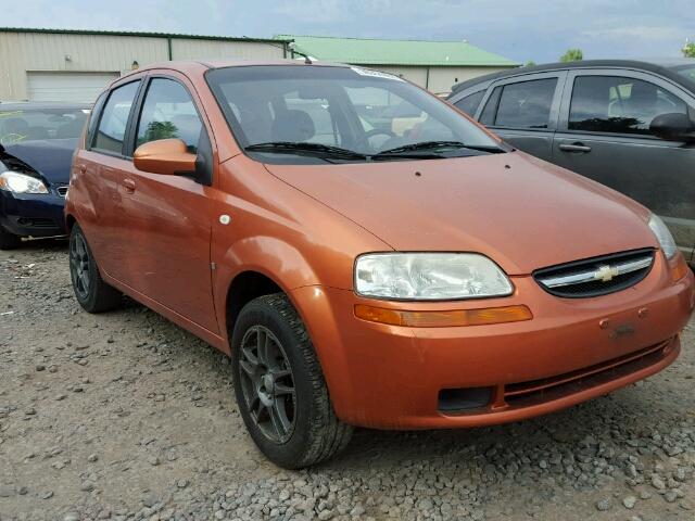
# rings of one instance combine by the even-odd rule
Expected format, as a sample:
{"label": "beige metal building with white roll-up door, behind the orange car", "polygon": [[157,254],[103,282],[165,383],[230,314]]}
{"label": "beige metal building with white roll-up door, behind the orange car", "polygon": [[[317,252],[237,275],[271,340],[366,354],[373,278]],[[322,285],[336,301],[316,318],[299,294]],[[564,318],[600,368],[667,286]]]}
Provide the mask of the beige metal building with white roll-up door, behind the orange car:
{"label": "beige metal building with white roll-up door, behind the orange car", "polygon": [[167,60],[282,59],[282,39],[0,28],[0,101],[91,102],[114,78]]}

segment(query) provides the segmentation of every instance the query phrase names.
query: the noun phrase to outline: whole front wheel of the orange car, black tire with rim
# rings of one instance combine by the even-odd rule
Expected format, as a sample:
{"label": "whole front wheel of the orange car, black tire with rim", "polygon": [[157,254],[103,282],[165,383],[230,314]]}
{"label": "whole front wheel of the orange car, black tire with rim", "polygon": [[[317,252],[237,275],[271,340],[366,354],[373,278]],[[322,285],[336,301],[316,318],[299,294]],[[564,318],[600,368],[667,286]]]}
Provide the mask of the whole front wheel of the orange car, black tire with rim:
{"label": "whole front wheel of the orange car, black tire with rim", "polygon": [[300,469],[345,448],[353,428],[336,417],[312,341],[287,295],[264,295],[247,304],[231,347],[241,417],[270,461]]}

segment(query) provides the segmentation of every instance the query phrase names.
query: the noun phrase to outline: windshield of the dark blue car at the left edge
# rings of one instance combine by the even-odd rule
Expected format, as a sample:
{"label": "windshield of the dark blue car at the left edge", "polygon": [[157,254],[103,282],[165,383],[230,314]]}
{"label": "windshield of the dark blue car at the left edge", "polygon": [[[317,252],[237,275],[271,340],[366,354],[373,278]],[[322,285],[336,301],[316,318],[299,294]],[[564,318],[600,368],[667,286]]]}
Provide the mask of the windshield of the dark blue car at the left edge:
{"label": "windshield of the dark blue car at the left edge", "polygon": [[0,110],[0,144],[78,138],[88,114],[87,109]]}

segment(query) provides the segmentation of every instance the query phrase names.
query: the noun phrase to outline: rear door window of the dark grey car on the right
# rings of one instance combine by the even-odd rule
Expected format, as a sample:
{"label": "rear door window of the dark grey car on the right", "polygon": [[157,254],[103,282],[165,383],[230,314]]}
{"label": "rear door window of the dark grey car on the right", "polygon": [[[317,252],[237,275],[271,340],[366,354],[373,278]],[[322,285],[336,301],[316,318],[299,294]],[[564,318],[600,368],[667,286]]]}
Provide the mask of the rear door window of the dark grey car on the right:
{"label": "rear door window of the dark grey car on the right", "polygon": [[502,89],[495,126],[547,128],[557,78],[508,84]]}

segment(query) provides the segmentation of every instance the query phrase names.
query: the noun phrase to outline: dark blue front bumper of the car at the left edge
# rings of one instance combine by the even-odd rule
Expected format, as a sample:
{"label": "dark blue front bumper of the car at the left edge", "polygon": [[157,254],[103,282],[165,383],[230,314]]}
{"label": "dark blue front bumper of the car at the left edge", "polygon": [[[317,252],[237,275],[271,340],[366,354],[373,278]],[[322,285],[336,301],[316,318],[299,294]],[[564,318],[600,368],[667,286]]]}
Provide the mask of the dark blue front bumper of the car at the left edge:
{"label": "dark blue front bumper of the car at the left edge", "polygon": [[21,237],[65,234],[65,198],[56,192],[17,194],[0,190],[0,225]]}

